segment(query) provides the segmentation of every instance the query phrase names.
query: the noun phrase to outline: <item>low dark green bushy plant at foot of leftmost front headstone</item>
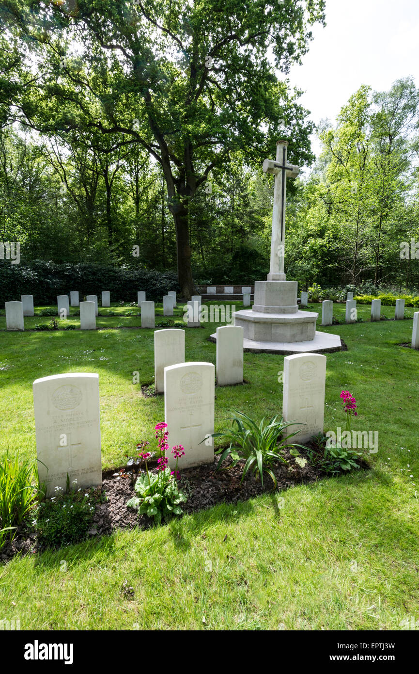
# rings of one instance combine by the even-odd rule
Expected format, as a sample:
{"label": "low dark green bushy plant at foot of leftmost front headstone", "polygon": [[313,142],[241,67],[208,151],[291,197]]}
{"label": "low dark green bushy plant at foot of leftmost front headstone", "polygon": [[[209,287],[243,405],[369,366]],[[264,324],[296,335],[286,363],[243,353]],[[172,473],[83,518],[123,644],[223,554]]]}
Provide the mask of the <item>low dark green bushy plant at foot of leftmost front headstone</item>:
{"label": "low dark green bushy plant at foot of leftmost front headstone", "polygon": [[92,524],[95,504],[104,500],[94,488],[75,489],[46,499],[38,505],[35,528],[38,540],[46,547],[62,547],[79,543]]}

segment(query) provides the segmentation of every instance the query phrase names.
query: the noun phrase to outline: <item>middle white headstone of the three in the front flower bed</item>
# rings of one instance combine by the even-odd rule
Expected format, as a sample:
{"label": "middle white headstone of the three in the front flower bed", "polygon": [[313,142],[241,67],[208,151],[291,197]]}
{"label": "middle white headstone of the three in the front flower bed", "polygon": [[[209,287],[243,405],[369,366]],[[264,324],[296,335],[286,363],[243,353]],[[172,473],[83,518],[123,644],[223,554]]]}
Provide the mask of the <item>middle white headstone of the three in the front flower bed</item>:
{"label": "middle white headstone of the three in the front flower bed", "polygon": [[[214,374],[212,363],[185,363],[164,368],[164,421],[169,446],[182,445],[179,470],[214,462]],[[207,439],[205,440],[205,437]],[[201,440],[205,440],[201,443]],[[166,450],[170,468],[176,459]]]}

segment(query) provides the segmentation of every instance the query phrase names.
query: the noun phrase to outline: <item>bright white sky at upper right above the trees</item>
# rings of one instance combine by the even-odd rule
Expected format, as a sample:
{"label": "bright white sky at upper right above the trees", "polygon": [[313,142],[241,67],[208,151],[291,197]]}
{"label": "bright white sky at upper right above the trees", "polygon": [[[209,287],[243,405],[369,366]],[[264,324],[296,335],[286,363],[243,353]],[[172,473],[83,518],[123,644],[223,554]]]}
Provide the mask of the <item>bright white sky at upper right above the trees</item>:
{"label": "bright white sky at upper right above the trees", "polygon": [[419,86],[419,0],[326,0],[325,13],[327,26],[313,28],[309,53],[290,69],[315,123],[334,122],[361,84],[385,91],[413,75]]}

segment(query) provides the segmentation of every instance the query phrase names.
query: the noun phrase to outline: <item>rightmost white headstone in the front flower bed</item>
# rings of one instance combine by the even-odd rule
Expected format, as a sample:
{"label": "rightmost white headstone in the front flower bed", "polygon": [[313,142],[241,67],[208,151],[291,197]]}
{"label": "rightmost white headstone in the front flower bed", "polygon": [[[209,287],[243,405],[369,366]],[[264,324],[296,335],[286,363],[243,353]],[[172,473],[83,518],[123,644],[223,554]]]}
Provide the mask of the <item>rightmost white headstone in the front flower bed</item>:
{"label": "rightmost white headstone in the front flower bed", "polygon": [[289,443],[304,443],[323,432],[325,415],[326,357],[303,353],[284,358],[284,421],[297,421],[287,433],[298,431]]}

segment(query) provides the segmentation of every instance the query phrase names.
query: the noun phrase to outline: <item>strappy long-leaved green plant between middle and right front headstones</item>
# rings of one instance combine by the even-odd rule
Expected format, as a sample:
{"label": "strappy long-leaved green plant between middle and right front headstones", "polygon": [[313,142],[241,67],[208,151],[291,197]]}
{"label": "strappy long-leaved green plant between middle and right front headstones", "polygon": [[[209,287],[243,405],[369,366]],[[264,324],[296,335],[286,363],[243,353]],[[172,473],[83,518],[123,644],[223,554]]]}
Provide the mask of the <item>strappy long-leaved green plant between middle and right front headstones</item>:
{"label": "strappy long-leaved green plant between middle and right front headstones", "polygon": [[[285,422],[284,419],[278,420],[278,417],[272,417],[269,421],[263,417],[259,425],[243,412],[236,412],[232,417],[232,425],[222,433],[214,433],[213,437],[223,437],[230,441],[228,448],[218,450],[216,454],[221,454],[218,462],[220,468],[222,462],[227,456],[232,458],[232,465],[235,466],[240,460],[245,460],[243,467],[242,481],[250,470],[259,477],[263,485],[263,472],[266,472],[275,487],[277,481],[271,467],[278,463],[286,463],[284,458],[284,448],[302,447],[302,445],[288,444],[288,440],[298,431],[286,435],[286,428],[295,424],[295,421]],[[299,457],[298,451],[294,456]],[[302,460],[303,461],[303,460]],[[302,465],[299,460],[298,463]]]}

